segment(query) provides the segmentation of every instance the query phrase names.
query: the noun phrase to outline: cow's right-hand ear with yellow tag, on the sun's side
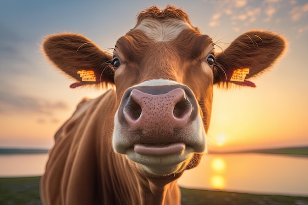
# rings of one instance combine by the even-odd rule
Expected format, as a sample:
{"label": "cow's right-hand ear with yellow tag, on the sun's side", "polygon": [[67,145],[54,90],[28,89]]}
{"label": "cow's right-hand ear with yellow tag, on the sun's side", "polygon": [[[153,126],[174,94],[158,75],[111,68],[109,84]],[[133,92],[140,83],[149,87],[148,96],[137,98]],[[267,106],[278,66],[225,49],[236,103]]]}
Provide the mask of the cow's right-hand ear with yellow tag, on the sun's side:
{"label": "cow's right-hand ear with yellow tag, on the sun's side", "polygon": [[240,35],[225,51],[216,55],[214,83],[255,87],[246,79],[273,65],[285,46],[283,37],[267,31],[251,30]]}

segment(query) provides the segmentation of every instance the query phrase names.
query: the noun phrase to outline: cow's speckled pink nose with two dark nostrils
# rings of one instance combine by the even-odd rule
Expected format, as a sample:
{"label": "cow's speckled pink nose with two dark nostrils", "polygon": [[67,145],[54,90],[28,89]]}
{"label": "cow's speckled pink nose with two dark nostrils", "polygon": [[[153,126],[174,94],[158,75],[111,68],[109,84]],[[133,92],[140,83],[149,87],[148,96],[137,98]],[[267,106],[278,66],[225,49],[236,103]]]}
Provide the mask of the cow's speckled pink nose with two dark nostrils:
{"label": "cow's speckled pink nose with two dark nostrils", "polygon": [[123,108],[123,116],[131,130],[173,132],[187,124],[192,110],[182,88],[157,95],[133,89]]}

